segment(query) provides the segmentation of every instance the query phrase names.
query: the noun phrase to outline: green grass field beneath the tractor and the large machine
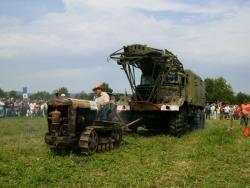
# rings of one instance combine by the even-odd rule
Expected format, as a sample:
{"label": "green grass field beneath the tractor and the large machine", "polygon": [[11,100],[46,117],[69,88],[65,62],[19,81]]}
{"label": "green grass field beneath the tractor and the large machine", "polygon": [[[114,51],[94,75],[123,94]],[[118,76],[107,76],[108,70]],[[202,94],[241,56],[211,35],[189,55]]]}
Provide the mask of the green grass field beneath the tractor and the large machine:
{"label": "green grass field beneath the tractor and the large machine", "polygon": [[54,156],[42,118],[0,119],[0,187],[249,187],[250,138],[235,121],[208,121],[181,138],[125,136],[120,149]]}

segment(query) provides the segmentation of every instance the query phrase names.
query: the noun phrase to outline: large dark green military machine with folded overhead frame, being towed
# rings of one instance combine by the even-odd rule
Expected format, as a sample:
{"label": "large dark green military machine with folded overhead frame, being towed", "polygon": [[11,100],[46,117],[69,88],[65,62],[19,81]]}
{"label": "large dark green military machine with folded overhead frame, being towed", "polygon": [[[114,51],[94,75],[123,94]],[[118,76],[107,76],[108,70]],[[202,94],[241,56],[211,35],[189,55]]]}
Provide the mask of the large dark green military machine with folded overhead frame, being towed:
{"label": "large dark green military machine with folded overhead frame, being towed", "polygon": [[[110,58],[124,70],[133,93],[127,106],[118,106],[124,120],[140,118],[140,125],[176,136],[204,127],[204,82],[191,70],[184,70],[173,53],[134,44],[117,50]],[[139,84],[136,69],[141,71]]]}

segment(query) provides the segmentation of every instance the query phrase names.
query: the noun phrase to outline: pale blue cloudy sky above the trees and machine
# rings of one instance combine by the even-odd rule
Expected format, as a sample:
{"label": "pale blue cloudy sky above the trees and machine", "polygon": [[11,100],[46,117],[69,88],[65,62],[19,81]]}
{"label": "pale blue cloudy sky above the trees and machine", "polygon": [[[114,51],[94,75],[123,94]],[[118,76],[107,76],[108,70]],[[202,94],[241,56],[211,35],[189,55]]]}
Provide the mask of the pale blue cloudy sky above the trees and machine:
{"label": "pale blue cloudy sky above the trees and machine", "polygon": [[249,20],[250,0],[0,0],[0,88],[76,93],[107,82],[124,92],[126,76],[107,57],[147,44],[250,93]]}

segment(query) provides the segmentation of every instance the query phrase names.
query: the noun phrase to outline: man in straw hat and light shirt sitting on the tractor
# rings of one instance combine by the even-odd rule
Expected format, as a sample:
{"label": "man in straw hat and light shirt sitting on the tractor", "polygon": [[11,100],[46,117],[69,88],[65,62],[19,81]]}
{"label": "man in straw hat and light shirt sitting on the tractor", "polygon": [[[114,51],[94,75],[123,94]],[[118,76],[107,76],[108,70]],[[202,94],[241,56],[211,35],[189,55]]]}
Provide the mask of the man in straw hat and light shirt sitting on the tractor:
{"label": "man in straw hat and light shirt sitting on the tractor", "polygon": [[110,112],[110,97],[103,91],[101,84],[97,84],[93,91],[95,92],[94,101],[98,107],[97,120],[107,120],[108,114]]}

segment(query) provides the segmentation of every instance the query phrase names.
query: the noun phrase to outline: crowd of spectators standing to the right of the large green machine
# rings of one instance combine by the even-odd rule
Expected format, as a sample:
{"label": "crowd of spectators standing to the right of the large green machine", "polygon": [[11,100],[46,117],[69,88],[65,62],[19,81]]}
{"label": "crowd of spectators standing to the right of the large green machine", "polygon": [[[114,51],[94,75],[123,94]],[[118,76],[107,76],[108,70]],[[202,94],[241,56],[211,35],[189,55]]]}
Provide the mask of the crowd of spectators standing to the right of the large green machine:
{"label": "crowd of spectators standing to the right of the large green machine", "polygon": [[218,102],[206,104],[205,106],[206,119],[224,120],[233,117],[233,119],[237,120],[240,118],[240,112],[241,109],[239,105],[229,105]]}

